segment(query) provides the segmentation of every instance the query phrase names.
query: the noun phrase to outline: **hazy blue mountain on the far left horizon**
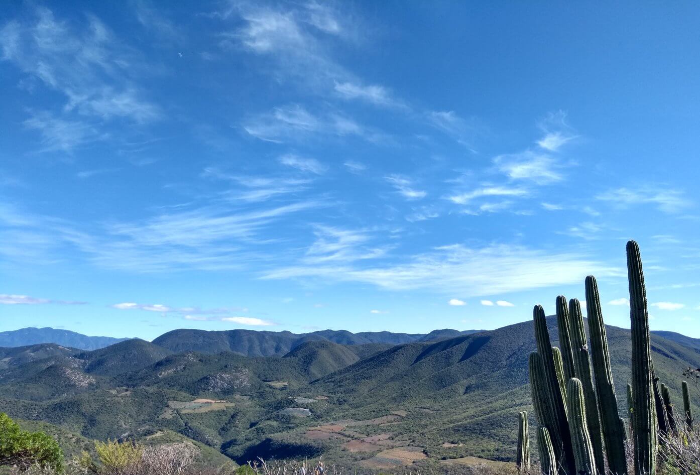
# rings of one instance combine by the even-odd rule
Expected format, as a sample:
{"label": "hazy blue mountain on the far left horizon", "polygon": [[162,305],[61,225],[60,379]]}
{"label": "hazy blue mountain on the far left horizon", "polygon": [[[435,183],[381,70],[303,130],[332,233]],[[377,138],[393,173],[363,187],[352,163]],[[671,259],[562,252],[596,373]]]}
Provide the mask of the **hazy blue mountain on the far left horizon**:
{"label": "hazy blue mountain on the far left horizon", "polygon": [[97,350],[105,346],[125,341],[127,338],[111,336],[86,336],[69,330],[44,328],[22,328],[0,332],[0,347],[29,346],[38,343],[56,343],[61,346],[78,348],[78,350]]}

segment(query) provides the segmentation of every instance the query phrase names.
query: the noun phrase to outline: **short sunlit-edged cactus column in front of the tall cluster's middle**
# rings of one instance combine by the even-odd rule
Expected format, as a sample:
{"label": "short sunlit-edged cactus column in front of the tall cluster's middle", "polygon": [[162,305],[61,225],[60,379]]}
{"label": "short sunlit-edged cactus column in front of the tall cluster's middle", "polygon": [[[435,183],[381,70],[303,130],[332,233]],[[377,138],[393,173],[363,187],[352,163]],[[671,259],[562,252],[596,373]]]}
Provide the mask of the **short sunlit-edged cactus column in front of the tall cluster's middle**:
{"label": "short sunlit-edged cactus column in front of the tall cluster's middle", "polygon": [[576,474],[597,475],[596,460],[586,423],[583,385],[577,378],[571,378],[566,385],[566,402],[569,413],[571,444],[576,461]]}

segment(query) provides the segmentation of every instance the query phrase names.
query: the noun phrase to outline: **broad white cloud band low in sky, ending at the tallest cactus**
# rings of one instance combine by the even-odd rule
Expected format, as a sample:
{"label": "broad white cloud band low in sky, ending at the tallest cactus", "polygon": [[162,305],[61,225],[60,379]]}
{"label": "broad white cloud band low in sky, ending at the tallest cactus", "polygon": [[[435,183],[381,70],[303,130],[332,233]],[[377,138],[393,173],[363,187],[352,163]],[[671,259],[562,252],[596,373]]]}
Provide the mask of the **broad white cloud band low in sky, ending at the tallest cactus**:
{"label": "broad white cloud band low in sky, ending at the tallest cactus", "polygon": [[387,290],[426,289],[478,297],[577,283],[589,274],[622,275],[619,269],[579,253],[547,253],[506,245],[468,248],[455,244],[414,255],[403,264],[367,267],[300,264],[264,272],[262,278],[321,278],[326,282],[371,283]]}

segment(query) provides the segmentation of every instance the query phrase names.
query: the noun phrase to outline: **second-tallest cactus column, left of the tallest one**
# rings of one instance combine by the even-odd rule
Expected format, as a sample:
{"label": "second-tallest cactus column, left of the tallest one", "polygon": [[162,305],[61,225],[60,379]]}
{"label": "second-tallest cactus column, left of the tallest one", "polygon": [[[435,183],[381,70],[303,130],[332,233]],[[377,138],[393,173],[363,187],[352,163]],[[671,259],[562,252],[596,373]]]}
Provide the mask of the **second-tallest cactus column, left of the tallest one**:
{"label": "second-tallest cactus column, left of the tallest one", "polygon": [[626,434],[624,423],[621,422],[617,412],[617,396],[615,396],[615,384],[612,381],[612,369],[610,368],[608,336],[603,323],[598,283],[594,276],[586,278],[586,310],[591,336],[591,362],[596,380],[596,396],[598,397],[598,411],[603,427],[605,454],[608,455],[610,472],[617,475],[627,475],[624,450]]}

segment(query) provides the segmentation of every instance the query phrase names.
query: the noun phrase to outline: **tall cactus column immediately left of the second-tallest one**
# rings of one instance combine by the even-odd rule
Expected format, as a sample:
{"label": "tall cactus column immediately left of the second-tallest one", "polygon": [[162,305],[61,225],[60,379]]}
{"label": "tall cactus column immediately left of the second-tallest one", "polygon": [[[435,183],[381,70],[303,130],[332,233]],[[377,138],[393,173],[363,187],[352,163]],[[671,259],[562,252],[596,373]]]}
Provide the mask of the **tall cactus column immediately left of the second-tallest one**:
{"label": "tall cactus column immediately left of the second-tallest one", "polygon": [[[583,386],[584,402],[586,405],[586,420],[588,422],[593,455],[596,460],[598,473],[605,474],[605,457],[603,457],[603,434],[601,431],[601,415],[598,412],[598,398],[593,387],[591,360],[588,353],[586,329],[583,325],[581,304],[578,299],[569,301],[569,325],[573,362],[578,379]],[[618,416],[619,418],[619,416]]]}

